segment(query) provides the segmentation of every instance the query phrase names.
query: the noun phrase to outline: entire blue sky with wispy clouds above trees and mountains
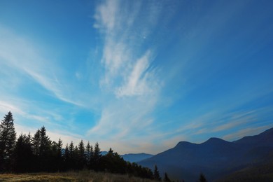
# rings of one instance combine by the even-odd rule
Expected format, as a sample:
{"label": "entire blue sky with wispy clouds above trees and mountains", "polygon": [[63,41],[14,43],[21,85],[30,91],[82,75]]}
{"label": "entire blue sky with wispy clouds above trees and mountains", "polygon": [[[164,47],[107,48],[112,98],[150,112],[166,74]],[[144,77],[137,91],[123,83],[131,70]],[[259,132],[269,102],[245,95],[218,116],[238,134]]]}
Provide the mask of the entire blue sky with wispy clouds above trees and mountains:
{"label": "entire blue sky with wispy clouds above trees and mountains", "polygon": [[273,1],[0,1],[0,113],[159,153],[273,127]]}

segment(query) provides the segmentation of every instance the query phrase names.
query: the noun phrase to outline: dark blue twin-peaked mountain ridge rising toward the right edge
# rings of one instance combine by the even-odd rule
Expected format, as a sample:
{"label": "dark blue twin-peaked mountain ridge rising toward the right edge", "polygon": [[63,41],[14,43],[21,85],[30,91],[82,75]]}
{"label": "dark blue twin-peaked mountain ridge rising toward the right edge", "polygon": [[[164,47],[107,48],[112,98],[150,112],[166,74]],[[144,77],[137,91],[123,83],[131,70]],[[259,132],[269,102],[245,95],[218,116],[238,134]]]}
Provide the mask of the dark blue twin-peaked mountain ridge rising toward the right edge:
{"label": "dark blue twin-peaked mountain ridge rising toward the right edge", "polygon": [[[265,162],[273,153],[273,128],[261,134],[244,137],[237,141],[211,138],[202,144],[181,141],[174,148],[138,162],[144,167],[158,166],[172,179],[196,181],[199,174],[205,174],[208,181]],[[273,158],[273,156],[272,156]]]}

